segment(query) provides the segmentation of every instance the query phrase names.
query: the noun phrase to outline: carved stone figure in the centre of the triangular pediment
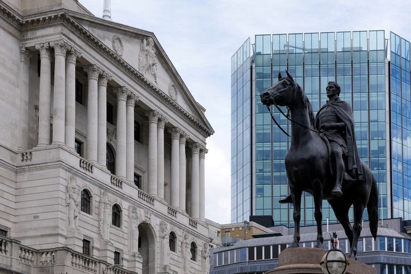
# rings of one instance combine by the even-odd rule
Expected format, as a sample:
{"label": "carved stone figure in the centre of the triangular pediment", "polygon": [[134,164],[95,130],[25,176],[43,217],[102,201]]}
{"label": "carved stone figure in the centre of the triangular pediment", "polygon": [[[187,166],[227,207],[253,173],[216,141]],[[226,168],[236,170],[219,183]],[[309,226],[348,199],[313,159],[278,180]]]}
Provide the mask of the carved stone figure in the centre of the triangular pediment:
{"label": "carved stone figure in the centre of the triangular pediment", "polygon": [[143,38],[138,54],[138,70],[157,84],[156,48],[152,37]]}

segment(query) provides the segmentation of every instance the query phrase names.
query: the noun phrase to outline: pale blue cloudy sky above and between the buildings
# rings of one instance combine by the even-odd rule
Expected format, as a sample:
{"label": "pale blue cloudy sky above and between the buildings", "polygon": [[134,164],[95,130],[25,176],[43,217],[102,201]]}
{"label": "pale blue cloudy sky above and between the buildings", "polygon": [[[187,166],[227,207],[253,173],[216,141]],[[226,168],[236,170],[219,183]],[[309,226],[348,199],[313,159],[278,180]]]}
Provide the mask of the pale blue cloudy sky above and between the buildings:
{"label": "pale blue cloudy sky above and between the buildings", "polygon": [[[103,0],[80,0],[98,17]],[[411,1],[111,0],[114,22],[154,32],[215,130],[206,218],[230,223],[231,56],[256,34],[385,30],[411,40]],[[405,12],[407,11],[407,12]]]}

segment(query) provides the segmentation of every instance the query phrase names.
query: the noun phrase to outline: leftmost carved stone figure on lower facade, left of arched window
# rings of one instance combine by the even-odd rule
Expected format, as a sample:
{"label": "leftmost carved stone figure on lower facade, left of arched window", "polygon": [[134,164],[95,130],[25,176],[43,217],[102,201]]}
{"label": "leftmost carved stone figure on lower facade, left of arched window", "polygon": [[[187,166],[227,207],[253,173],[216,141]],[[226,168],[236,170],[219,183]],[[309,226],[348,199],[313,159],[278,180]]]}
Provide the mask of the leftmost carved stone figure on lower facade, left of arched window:
{"label": "leftmost carved stone figure on lower facade, left of arched window", "polygon": [[67,182],[66,207],[67,207],[67,227],[78,229],[78,215],[80,204],[80,187],[77,185],[77,179],[70,175]]}

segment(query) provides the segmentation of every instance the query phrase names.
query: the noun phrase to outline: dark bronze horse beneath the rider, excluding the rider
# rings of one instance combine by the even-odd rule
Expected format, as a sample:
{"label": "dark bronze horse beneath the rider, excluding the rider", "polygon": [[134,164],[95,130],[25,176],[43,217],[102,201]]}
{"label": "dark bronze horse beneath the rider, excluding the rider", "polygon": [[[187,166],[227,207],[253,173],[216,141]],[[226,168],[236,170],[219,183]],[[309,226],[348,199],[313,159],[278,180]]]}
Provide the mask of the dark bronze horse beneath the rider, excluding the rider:
{"label": "dark bronze horse beneath the rider, excluding the rider", "polygon": [[[293,242],[289,247],[298,247],[300,242],[301,195],[310,193],[314,200],[314,218],[317,225],[317,240],[314,247],[322,248],[322,203],[326,199],[335,216],[342,224],[350,242],[349,258],[356,258],[357,243],[361,233],[362,216],[367,206],[369,227],[372,237],[377,237],[378,224],[378,188],[376,179],[369,167],[362,161],[364,180],[344,179],[343,195],[331,194],[335,178],[331,171],[328,147],[320,136],[319,129],[314,127],[314,115],[311,103],[304,90],[294,82],[287,72],[286,77],[278,74],[278,82],[260,94],[261,102],[271,105],[287,106],[291,113],[291,146],[285,157],[285,166],[295,223]],[[348,218],[348,210],[353,205],[353,227]]]}

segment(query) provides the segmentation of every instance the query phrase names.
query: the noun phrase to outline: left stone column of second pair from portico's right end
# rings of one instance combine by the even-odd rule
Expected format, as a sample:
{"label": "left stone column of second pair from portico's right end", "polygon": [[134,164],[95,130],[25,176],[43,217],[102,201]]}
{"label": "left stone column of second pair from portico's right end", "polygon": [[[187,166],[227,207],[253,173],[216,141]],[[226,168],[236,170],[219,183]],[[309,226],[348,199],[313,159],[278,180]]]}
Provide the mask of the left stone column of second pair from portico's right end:
{"label": "left stone column of second pair from portico's right end", "polygon": [[181,130],[174,127],[171,133],[171,206],[180,207],[180,153],[179,140]]}

